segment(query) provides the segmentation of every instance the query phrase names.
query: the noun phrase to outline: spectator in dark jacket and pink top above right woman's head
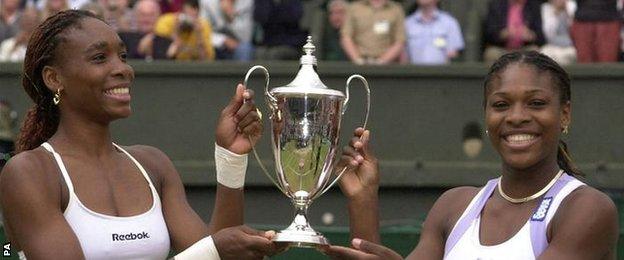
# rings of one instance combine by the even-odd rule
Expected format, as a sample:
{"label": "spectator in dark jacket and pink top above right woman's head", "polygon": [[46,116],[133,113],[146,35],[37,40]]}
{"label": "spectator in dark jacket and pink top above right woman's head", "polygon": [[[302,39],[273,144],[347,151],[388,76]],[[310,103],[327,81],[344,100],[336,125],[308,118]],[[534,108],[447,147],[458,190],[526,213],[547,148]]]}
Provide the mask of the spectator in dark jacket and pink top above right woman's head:
{"label": "spectator in dark jacket and pink top above right woman's head", "polygon": [[537,50],[544,44],[540,4],[539,0],[490,2],[485,25],[486,62],[514,50]]}

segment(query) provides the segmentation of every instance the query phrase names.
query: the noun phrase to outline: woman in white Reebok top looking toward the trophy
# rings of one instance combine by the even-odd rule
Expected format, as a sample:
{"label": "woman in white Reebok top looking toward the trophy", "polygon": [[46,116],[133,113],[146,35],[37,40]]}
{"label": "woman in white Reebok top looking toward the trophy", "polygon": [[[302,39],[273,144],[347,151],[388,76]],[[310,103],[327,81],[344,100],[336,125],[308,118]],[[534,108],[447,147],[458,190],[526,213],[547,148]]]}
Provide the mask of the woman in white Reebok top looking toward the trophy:
{"label": "woman in white Reebok top looking toward the trophy", "polygon": [[[134,79],[115,31],[86,11],[60,12],[33,33],[22,86],[35,105],[0,176],[5,228],[30,259],[261,259],[272,232],[243,222],[246,153],[262,126],[242,85],[216,131],[217,195],[210,224],[189,206],[160,150],[113,143],[131,114]],[[247,100],[247,102],[243,102]],[[237,130],[238,129],[238,130]]]}

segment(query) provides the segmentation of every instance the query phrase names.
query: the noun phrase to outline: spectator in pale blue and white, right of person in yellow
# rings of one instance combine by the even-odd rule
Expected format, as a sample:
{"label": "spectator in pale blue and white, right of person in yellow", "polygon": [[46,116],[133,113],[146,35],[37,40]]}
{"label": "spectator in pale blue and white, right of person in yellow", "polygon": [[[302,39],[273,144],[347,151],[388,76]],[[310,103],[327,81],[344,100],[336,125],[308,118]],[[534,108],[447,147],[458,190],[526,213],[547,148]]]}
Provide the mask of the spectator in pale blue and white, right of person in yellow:
{"label": "spectator in pale blue and white, right of person in yellow", "polygon": [[254,0],[200,0],[201,16],[213,28],[217,59],[249,61],[253,58]]}

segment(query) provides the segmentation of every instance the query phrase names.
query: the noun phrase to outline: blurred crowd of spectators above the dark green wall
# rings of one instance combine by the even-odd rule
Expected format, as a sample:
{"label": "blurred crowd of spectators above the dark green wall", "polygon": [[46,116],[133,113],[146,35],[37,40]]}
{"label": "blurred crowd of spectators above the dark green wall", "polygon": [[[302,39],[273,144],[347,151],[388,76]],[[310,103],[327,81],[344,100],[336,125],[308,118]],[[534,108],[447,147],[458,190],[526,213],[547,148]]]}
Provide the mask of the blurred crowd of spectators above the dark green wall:
{"label": "blurred crowd of spectators above the dark green wall", "polygon": [[[64,9],[84,9],[113,26],[130,59],[296,60],[309,34],[305,1],[0,0],[0,62],[19,62],[33,29]],[[328,0],[321,59],[356,64],[446,64],[465,48],[462,24],[440,1]],[[540,50],[562,64],[616,62],[624,0],[489,0],[483,60]]]}

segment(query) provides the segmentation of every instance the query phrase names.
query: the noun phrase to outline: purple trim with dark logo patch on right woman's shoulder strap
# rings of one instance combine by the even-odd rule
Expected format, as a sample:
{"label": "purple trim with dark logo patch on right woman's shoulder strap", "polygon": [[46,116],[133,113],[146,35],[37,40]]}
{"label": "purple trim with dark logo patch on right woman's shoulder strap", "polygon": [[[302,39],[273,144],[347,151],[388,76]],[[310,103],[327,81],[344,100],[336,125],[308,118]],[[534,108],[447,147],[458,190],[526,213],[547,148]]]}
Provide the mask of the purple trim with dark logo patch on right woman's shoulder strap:
{"label": "purple trim with dark logo patch on right woman's shoulder strap", "polygon": [[[543,220],[548,214],[548,210],[550,209],[550,203],[552,203],[552,200],[557,197],[557,194],[559,194],[561,189],[563,189],[563,187],[565,187],[566,184],[568,184],[572,180],[574,180],[574,177],[568,175],[567,173],[564,173],[563,176],[561,176],[559,180],[557,180],[555,185],[553,185],[552,188],[550,188],[548,192],[546,192],[546,195],[544,195],[542,201],[537,204],[537,207],[533,212],[529,225],[531,226],[531,245],[533,247],[533,255],[536,259],[539,255],[542,254],[542,252],[544,252],[544,250],[546,250],[546,247],[548,247],[548,237],[546,236],[548,223]],[[540,208],[542,208],[541,206],[544,202],[547,202],[547,204],[544,204],[546,207],[546,212],[539,212],[540,215],[544,214],[544,217],[535,217],[535,215],[538,214]]]}

